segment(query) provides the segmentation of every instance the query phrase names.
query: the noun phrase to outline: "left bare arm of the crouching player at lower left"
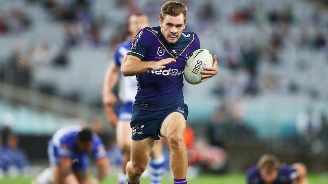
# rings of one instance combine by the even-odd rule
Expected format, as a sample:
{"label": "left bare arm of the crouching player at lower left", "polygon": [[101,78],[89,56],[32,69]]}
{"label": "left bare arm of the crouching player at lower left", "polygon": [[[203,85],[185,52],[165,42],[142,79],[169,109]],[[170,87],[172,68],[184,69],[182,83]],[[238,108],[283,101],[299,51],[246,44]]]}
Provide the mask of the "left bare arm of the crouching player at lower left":
{"label": "left bare arm of the crouching player at lower left", "polygon": [[68,157],[60,157],[60,183],[79,184],[78,179],[72,171],[72,159]]}

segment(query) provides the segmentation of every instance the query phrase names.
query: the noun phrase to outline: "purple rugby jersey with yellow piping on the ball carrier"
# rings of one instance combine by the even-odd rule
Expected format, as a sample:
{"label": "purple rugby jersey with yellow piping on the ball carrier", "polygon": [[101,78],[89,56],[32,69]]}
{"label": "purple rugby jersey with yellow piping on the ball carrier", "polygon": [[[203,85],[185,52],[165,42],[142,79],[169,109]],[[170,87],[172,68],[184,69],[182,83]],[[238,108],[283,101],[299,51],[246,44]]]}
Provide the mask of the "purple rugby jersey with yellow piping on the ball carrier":
{"label": "purple rugby jersey with yellow piping on the ball carrier", "polygon": [[138,92],[133,109],[160,111],[184,103],[183,70],[189,55],[199,48],[199,39],[193,32],[184,31],[177,43],[168,44],[160,27],[142,29],[135,37],[128,55],[142,61],[159,61],[172,57],[177,62],[167,64],[165,69],[137,75]]}

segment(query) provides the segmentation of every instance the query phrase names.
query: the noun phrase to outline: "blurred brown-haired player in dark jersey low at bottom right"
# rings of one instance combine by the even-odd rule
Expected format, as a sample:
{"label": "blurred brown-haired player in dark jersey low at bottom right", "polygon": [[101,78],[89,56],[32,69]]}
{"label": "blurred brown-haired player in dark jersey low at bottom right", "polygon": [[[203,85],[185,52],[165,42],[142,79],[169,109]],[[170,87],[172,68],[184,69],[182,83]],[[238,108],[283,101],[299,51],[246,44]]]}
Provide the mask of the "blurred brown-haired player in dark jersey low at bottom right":
{"label": "blurred brown-haired player in dark jersey low at bottom right", "polygon": [[308,184],[306,166],[280,163],[275,155],[263,155],[256,166],[247,171],[247,184]]}

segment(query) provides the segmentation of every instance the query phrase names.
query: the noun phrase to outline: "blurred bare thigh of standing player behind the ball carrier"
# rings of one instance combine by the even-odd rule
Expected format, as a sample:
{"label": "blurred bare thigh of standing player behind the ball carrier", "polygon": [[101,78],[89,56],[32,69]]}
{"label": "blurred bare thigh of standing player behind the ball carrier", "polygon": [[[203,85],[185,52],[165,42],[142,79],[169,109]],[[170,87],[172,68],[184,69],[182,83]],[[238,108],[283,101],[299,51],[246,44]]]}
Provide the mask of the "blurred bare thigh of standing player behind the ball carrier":
{"label": "blurred bare thigh of standing player behind the ball carrier", "polygon": [[130,150],[132,128],[129,121],[120,121],[116,127],[116,140],[119,147],[123,150]]}

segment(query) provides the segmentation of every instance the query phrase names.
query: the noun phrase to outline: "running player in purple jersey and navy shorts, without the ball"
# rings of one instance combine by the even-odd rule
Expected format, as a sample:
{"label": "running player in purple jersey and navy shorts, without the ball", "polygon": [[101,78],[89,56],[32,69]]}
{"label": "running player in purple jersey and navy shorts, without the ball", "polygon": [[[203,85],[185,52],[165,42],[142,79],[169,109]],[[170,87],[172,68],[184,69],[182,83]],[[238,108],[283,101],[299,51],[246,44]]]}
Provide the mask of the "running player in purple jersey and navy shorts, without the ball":
{"label": "running player in purple jersey and navy shorts, without the ball", "polygon": [[[136,75],[138,91],[131,120],[131,161],[127,164],[128,183],[139,183],[147,167],[148,155],[160,137],[170,145],[170,163],[174,183],[186,184],[187,150],[184,131],[188,106],[183,99],[183,71],[186,58],[200,48],[197,35],[183,32],[187,7],[168,2],[161,7],[158,27],[144,28],[135,37],[121,71]],[[218,71],[216,56],[213,66],[202,71],[202,81]]]}

